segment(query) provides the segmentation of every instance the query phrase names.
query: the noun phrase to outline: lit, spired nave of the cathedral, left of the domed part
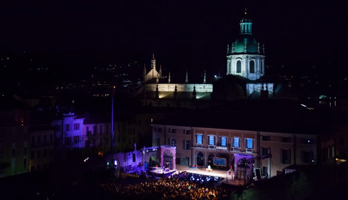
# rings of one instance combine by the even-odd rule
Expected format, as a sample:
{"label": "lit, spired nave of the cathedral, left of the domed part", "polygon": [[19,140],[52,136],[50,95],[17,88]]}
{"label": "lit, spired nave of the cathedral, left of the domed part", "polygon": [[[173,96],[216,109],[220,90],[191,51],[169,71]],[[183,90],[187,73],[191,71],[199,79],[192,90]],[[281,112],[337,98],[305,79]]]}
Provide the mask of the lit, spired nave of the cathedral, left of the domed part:
{"label": "lit, spired nave of the cathedral, left of the domed part", "polygon": [[171,107],[207,107],[212,92],[212,84],[206,83],[206,74],[198,81],[189,81],[186,72],[185,79],[174,79],[163,76],[161,66],[156,69],[154,54],[151,58],[151,68],[147,72],[143,68],[144,84],[135,92],[134,96],[144,104]]}

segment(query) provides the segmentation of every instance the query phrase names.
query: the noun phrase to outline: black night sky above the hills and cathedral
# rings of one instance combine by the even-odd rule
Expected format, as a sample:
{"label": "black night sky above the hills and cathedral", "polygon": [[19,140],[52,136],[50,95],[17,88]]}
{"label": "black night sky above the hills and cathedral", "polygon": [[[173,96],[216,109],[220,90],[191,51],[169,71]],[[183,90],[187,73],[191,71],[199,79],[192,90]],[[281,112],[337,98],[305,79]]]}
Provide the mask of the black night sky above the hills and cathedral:
{"label": "black night sky above the hills and cathedral", "polygon": [[346,70],[344,2],[281,0],[48,0],[1,2],[0,52],[23,52],[81,67],[138,60],[171,71],[225,73],[244,7],[267,65],[306,69],[328,61]]}

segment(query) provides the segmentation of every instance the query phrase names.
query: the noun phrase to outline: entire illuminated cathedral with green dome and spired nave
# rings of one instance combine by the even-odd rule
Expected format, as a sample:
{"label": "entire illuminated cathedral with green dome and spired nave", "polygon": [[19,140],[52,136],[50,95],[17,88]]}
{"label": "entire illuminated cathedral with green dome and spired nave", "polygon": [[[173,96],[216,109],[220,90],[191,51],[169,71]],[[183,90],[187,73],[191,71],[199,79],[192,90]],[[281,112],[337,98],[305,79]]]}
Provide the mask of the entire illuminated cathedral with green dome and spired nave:
{"label": "entire illuminated cathedral with green dome and spired nave", "polygon": [[189,81],[187,72],[185,79],[172,80],[170,72],[163,76],[152,55],[150,70],[143,69],[144,85],[135,96],[144,104],[192,108],[236,99],[293,98],[293,92],[279,77],[264,76],[264,45],[253,37],[252,21],[246,12],[239,23],[238,38],[227,45],[226,59],[226,76],[208,82],[204,71],[200,80]]}

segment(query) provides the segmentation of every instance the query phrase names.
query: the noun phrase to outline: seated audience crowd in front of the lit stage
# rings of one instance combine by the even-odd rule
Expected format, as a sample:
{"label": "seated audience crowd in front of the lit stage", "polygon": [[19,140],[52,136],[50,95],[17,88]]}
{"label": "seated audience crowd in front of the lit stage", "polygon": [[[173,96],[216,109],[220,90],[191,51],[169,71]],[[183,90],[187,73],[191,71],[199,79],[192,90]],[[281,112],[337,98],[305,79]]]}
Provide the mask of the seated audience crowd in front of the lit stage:
{"label": "seated audience crowd in front of the lit stage", "polygon": [[182,172],[169,178],[135,185],[108,183],[102,189],[118,198],[136,200],[218,200],[227,199],[227,192],[216,187],[220,177]]}

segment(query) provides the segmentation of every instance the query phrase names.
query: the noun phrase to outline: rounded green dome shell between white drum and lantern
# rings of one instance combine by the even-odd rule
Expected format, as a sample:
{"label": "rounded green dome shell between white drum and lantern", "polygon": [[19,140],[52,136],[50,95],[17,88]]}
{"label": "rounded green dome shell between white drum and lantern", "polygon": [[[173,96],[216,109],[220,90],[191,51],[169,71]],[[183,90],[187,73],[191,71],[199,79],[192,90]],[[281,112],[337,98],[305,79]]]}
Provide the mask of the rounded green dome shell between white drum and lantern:
{"label": "rounded green dome shell between white drum and lantern", "polygon": [[234,52],[242,53],[244,52],[244,44],[246,43],[247,53],[257,52],[257,42],[251,34],[240,34],[239,37],[234,42]]}

